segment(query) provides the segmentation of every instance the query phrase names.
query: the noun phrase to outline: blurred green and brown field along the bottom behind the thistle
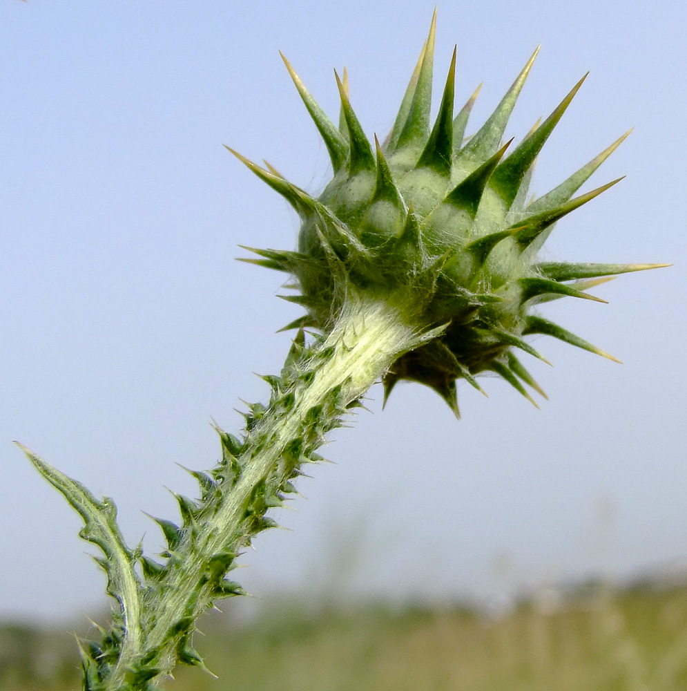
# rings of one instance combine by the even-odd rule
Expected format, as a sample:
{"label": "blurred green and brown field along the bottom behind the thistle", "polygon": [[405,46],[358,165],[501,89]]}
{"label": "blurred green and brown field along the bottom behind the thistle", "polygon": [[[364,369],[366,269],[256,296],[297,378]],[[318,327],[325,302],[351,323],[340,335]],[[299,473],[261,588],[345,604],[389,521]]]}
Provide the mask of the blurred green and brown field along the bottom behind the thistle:
{"label": "blurred green and brown field along the bottom behind the thistle", "polygon": [[[226,609],[231,609],[227,603]],[[166,691],[678,691],[687,689],[687,587],[542,591],[499,617],[369,603],[252,623],[209,617],[196,645],[213,679]],[[0,626],[0,690],[79,688],[66,632]]]}

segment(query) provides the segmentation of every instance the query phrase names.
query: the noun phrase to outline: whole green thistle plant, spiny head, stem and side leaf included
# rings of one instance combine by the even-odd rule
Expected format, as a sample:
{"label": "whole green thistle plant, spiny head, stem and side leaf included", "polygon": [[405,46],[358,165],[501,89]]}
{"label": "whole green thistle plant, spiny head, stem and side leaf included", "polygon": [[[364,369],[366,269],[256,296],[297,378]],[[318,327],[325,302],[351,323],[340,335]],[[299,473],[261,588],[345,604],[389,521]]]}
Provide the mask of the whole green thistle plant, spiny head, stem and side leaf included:
{"label": "whole green thistle plant, spiny head, stem and side leaf included", "polygon": [[481,390],[485,372],[532,402],[530,390],[543,395],[521,363],[521,354],[544,359],[530,334],[615,359],[536,307],[563,296],[603,302],[586,291],[613,274],[662,265],[539,261],[537,253],[559,218],[617,182],[574,196],[626,135],[532,200],[534,161],[583,79],[517,146],[503,144],[532,55],[494,113],[465,140],[476,93],[454,115],[455,52],[436,121],[429,120],[434,30],[433,19],[381,143],[363,132],[345,73],[342,81],[336,77],[341,111],[333,124],[284,59],[331,158],[333,178],[320,196],[233,152],[300,215],[296,251],[252,249],[257,258],[244,261],[289,274],[296,292],[287,299],[305,313],[289,324],[297,331],[281,372],[264,377],[269,401],[249,406],[240,435],[218,428],[221,460],[211,471],[192,471],[200,496],[176,496],[179,521],[155,519],[164,551],[153,558],[129,547],[113,500],[95,498],[25,449],[84,519],[81,537],[101,550],[97,562],[116,600],[99,640],[80,642],[84,689],[147,690],[177,663],[204,668],[193,648],[197,618],[217,600],[242,593],[227,576],[238,554],[275,525],[271,509],[296,491],[303,466],[320,460],[327,433],[360,406],[374,382],[383,382],[385,399],[400,380],[425,384],[457,416],[456,382]]}

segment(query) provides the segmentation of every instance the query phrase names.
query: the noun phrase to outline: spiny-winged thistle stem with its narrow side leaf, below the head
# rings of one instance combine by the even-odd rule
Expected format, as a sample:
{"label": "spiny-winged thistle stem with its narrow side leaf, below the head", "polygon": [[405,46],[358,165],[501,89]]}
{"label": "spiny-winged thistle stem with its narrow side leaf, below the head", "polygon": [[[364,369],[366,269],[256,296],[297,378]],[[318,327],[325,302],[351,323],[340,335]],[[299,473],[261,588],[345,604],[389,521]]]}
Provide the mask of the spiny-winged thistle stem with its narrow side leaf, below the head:
{"label": "spiny-winged thistle stem with its narrow side leaf, below the head", "polygon": [[414,313],[403,292],[362,297],[351,289],[326,338],[305,345],[300,332],[281,376],[264,377],[272,388],[269,405],[249,406],[241,441],[220,431],[222,461],[210,474],[193,472],[200,500],[177,496],[183,524],[155,519],[168,545],[162,563],[126,546],[112,500],[98,501],[25,449],[84,518],[81,536],[103,551],[98,562],[119,603],[102,640],[81,645],[84,689],[150,690],[179,662],[204,666],[191,647],[195,622],[215,600],[240,594],[225,575],[240,550],[274,525],[266,513],[293,491],[290,480],[302,474],[302,464],[320,460],[314,452],[351,404],[400,355],[441,332],[413,323]]}

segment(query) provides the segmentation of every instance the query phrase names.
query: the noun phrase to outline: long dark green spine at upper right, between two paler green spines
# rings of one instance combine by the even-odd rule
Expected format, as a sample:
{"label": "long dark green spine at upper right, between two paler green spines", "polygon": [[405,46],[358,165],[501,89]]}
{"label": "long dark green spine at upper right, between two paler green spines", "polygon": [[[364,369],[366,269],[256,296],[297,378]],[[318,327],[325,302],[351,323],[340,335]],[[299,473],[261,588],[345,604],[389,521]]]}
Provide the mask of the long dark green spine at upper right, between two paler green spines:
{"label": "long dark green spine at upper right, between two paler green spines", "polygon": [[584,75],[582,79],[575,84],[567,96],[561,101],[559,106],[544,120],[541,126],[537,127],[525,140],[523,140],[516,149],[506,158],[501,165],[494,171],[494,175],[490,180],[490,184],[506,203],[507,207],[512,205],[516,198],[520,184],[523,181],[525,173],[528,171],[534,159],[536,158],[541,147],[548,140],[554,127],[558,124],[566,108],[574,98],[574,95],[579,91],[582,83],[586,79]]}

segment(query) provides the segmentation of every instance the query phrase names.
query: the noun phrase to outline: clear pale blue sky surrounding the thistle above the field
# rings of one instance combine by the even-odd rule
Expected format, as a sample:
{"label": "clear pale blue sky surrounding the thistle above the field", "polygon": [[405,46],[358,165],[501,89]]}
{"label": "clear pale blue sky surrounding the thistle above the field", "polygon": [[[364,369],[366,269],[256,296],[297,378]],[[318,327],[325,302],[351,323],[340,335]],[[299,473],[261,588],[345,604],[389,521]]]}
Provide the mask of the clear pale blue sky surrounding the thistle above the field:
{"label": "clear pale blue sky surrounding the thistle above the field", "polygon": [[[334,583],[495,599],[687,560],[687,9],[627,7],[440,4],[435,68],[443,82],[458,44],[457,100],[484,82],[470,132],[541,43],[509,138],[591,70],[539,158],[539,193],[635,127],[586,189],[626,180],[559,223],[545,250],[675,264],[599,287],[610,305],[545,310],[623,366],[541,339],[555,367],[532,370],[550,401],[535,410],[485,381],[489,399],[460,390],[461,422],[414,385],[381,413],[373,389],[374,414],[326,450],[336,465],[314,468],[306,498],[278,516],[293,531],[245,556],[253,593]],[[2,0],[0,616],[81,616],[104,601],[76,515],[12,439],[113,496],[130,542],[145,533],[155,551],[141,510],[175,514],[164,487],[193,492],[175,464],[211,466],[211,418],[238,430],[239,399],[267,393],[253,372],[281,366],[289,335],[275,331],[299,312],[275,299],[280,275],[234,258],[239,244],[293,247],[297,218],[222,146],[311,191],[327,182],[278,49],[332,116],[332,68],[346,65],[360,120],[384,135],[433,10]]]}

